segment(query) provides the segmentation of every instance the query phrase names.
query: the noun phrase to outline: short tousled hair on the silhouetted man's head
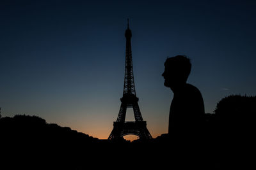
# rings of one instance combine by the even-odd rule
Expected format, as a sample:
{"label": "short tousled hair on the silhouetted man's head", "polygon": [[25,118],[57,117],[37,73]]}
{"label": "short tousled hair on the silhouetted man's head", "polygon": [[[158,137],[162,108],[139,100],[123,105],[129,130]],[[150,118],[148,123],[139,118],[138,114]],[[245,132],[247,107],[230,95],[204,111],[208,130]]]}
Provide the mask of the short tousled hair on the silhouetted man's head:
{"label": "short tousled hair on the silhouetted man's head", "polygon": [[191,71],[191,62],[186,55],[177,55],[175,57],[169,57],[164,62],[165,67],[170,67],[172,71],[188,79]]}

